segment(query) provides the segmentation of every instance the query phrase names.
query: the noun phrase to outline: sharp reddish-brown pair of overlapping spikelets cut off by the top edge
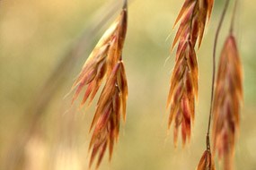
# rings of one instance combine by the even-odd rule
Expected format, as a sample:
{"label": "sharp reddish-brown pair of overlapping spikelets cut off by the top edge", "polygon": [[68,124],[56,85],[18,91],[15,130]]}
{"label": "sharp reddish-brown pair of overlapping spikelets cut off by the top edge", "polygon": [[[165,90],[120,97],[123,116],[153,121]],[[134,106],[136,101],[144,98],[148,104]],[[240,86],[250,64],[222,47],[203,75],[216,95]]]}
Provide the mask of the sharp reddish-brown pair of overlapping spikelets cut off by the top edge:
{"label": "sharp reddish-brown pair of overlapping spikelets cut off by the top edge", "polygon": [[183,146],[190,140],[191,123],[195,115],[195,100],[198,96],[198,62],[195,44],[199,47],[203,38],[205,24],[210,18],[213,0],[186,0],[174,26],[181,21],[172,43],[178,43],[175,66],[171,77],[171,86],[167,107],[171,107],[168,126],[174,120],[174,144],[177,145],[178,131],[181,126]]}

